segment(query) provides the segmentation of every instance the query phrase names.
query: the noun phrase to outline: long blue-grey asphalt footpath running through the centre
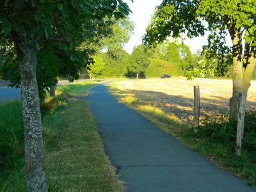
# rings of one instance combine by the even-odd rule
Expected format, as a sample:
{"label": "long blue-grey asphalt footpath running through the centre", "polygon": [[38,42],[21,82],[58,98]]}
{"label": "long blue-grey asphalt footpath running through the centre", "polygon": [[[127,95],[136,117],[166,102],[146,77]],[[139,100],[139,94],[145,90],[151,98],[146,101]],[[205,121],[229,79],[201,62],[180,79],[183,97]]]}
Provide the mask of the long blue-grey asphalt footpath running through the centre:
{"label": "long blue-grey asphalt footpath running through the centre", "polygon": [[256,191],[118,103],[106,86],[94,86],[86,99],[127,191]]}

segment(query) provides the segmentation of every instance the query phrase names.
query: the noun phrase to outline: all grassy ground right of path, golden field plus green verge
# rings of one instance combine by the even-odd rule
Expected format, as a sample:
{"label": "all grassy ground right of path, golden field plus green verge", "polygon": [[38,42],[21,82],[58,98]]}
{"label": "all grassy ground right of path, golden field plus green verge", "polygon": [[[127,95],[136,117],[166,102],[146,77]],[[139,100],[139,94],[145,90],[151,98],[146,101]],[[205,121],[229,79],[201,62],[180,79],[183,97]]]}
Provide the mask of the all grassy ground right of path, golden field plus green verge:
{"label": "all grassy ground right of path, golden field plus green verge", "polygon": [[[193,86],[200,85],[200,129],[191,127],[193,117]],[[246,116],[243,155],[236,156],[236,129],[228,124],[228,101],[232,95],[232,81],[225,79],[143,79],[116,81],[109,86],[111,93],[129,108],[138,111],[162,131],[175,136],[192,150],[228,172],[256,185],[255,180],[255,112]],[[247,108],[255,108],[256,82],[248,93]],[[221,112],[221,113],[220,113]],[[213,118],[212,118],[213,117]]]}

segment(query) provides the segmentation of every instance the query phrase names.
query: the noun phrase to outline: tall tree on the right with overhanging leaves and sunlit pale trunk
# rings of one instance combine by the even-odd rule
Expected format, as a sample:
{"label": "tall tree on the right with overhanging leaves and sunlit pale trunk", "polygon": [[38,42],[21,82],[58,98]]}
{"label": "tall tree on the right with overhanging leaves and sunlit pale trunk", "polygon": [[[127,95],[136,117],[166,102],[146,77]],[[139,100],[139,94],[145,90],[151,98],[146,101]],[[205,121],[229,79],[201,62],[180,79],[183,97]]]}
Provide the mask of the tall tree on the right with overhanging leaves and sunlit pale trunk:
{"label": "tall tree on the right with overhanging leaves and sunlit pale trunk", "polygon": [[[247,93],[256,63],[256,2],[214,0],[164,0],[157,6],[147,28],[144,42],[161,42],[167,36],[177,37],[186,33],[189,37],[204,35],[211,31],[208,47],[212,54],[232,52],[233,95],[230,99],[230,118],[237,118],[239,92]],[[207,26],[203,21],[207,21]],[[227,33],[232,38],[232,47],[225,44]],[[212,49],[213,48],[213,49]],[[218,60],[225,66],[225,60]]]}

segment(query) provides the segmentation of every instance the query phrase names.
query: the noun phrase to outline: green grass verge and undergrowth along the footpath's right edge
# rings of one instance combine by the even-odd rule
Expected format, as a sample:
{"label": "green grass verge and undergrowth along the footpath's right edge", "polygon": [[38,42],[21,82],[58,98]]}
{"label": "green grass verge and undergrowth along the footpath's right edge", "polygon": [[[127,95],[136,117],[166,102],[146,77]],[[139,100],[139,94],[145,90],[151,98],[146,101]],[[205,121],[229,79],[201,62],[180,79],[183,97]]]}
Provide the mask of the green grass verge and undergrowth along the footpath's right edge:
{"label": "green grass verge and undergrowth along the footpath's right edge", "polygon": [[256,110],[246,113],[242,156],[236,156],[236,125],[230,125],[228,116],[220,115],[215,119],[204,118],[200,129],[195,133],[191,125],[184,124],[177,117],[168,115],[156,106],[150,105],[151,102],[143,102],[143,99],[135,95],[118,90],[117,83],[109,84],[109,90],[120,102],[138,111],[156,124],[159,129],[175,136],[220,168],[256,186]]}

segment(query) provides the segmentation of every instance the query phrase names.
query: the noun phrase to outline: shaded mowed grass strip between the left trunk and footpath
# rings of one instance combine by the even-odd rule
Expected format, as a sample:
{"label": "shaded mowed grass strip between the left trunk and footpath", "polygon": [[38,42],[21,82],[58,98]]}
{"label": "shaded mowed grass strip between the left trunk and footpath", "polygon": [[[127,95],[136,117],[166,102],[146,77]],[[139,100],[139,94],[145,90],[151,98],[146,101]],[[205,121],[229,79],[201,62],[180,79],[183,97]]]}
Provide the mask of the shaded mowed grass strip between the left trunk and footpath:
{"label": "shaded mowed grass strip between the left trunk and footpath", "polygon": [[[50,191],[123,191],[102,149],[97,124],[86,100],[44,118],[45,166]],[[49,138],[48,138],[49,137]]]}

